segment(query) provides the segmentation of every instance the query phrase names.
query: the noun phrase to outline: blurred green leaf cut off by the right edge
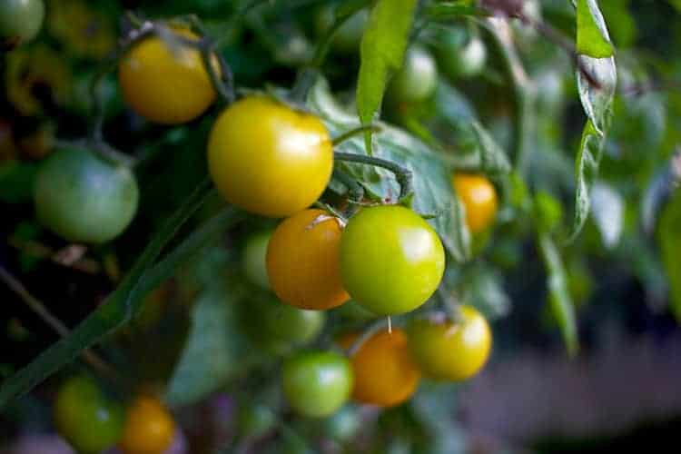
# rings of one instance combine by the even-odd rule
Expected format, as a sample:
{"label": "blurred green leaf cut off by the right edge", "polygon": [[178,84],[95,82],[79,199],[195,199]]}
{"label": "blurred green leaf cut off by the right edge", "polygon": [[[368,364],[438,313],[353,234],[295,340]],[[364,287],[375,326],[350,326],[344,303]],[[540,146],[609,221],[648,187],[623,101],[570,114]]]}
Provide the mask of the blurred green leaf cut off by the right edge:
{"label": "blurred green leaf cut off by the right edge", "polygon": [[681,269],[678,266],[681,254],[681,192],[678,190],[667,202],[657,224],[657,242],[662,262],[669,281],[669,300],[676,321],[681,322]]}

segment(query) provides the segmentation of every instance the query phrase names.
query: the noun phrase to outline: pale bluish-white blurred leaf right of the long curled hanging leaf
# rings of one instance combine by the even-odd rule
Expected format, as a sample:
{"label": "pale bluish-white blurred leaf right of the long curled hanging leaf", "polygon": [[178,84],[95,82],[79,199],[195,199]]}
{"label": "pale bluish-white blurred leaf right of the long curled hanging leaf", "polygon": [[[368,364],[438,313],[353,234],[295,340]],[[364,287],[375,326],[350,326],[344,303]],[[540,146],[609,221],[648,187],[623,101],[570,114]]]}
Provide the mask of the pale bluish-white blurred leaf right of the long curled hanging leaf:
{"label": "pale bluish-white blurred leaf right of the long curled hanging leaf", "polygon": [[624,230],[624,199],[606,183],[596,183],[591,201],[591,212],[603,244],[612,249],[617,246]]}

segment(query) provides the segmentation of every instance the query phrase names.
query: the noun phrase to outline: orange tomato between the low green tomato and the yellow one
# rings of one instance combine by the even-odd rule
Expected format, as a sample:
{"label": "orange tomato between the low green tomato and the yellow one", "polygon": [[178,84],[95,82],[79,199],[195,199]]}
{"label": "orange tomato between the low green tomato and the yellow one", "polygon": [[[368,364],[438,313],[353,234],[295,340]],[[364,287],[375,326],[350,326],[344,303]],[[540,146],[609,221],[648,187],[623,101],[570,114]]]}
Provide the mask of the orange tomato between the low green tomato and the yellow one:
{"label": "orange tomato between the low green tomato and the yellow one", "polygon": [[[350,347],[356,338],[350,335],[341,343]],[[410,399],[419,386],[420,372],[401,330],[378,331],[361,344],[350,362],[355,374],[352,399],[358,402],[392,407]]]}

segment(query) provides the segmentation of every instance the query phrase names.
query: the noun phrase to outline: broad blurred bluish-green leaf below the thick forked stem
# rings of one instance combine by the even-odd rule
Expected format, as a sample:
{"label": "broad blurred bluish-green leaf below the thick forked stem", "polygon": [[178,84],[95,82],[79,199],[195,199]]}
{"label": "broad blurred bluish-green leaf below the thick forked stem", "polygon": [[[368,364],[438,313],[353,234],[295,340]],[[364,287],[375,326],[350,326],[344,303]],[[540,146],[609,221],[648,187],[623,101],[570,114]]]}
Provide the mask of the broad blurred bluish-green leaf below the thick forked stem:
{"label": "broad blurred bluish-green leaf below the thick forked stem", "polygon": [[243,369],[248,351],[239,331],[233,293],[223,286],[204,291],[192,311],[189,338],[168,384],[170,405],[201,400]]}

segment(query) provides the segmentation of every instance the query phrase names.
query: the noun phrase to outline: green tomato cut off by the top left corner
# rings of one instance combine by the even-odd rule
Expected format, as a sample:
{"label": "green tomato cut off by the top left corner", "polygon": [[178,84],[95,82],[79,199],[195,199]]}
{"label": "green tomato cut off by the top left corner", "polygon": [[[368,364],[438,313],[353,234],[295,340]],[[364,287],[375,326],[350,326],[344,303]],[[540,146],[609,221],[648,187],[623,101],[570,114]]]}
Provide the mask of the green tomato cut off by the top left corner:
{"label": "green tomato cut off by the top left corner", "polygon": [[43,0],[0,0],[0,41],[3,47],[31,41],[43,26]]}

